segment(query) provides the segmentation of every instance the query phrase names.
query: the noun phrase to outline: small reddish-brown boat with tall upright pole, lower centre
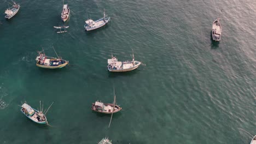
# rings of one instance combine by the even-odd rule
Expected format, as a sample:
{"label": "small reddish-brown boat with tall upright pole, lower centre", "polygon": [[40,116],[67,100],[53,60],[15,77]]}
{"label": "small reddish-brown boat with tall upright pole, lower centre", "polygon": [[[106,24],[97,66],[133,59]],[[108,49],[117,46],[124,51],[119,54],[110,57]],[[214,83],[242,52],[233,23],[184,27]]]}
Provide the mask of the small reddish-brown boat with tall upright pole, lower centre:
{"label": "small reddish-brown boat with tall upright pole, lower centre", "polygon": [[91,110],[100,112],[100,113],[115,113],[119,112],[122,109],[122,107],[118,106],[115,102],[115,94],[114,94],[114,102],[113,104],[104,104],[102,102],[96,101],[95,103],[92,103]]}

